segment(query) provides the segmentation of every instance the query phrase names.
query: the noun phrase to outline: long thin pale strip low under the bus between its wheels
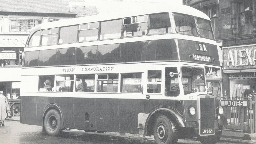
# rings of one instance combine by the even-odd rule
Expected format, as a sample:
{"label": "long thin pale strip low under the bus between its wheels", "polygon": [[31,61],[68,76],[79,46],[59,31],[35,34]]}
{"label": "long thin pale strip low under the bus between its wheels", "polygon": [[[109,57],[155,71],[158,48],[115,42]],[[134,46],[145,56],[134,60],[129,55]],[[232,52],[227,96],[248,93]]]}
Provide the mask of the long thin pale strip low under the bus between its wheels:
{"label": "long thin pale strip low under the bus between its wheels", "polygon": [[67,132],[67,133],[104,135],[104,136],[112,136],[112,137],[124,137],[124,138],[134,138],[134,139],[147,140],[146,137],[143,137],[142,135],[136,135],[136,134],[124,134],[124,133],[113,133],[113,132],[95,133],[95,132],[87,132],[87,131],[83,131],[83,130],[62,130],[62,131]]}

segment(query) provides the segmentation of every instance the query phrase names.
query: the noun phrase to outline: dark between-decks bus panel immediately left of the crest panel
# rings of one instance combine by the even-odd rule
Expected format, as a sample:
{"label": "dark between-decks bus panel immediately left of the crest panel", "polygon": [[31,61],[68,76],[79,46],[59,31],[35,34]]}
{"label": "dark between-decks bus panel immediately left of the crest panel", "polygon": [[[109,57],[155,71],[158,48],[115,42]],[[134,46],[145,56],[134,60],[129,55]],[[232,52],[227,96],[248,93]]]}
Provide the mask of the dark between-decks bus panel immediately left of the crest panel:
{"label": "dark between-decks bus panel immediately left of the crest panel", "polygon": [[74,65],[76,60],[76,49],[57,49],[57,65]]}

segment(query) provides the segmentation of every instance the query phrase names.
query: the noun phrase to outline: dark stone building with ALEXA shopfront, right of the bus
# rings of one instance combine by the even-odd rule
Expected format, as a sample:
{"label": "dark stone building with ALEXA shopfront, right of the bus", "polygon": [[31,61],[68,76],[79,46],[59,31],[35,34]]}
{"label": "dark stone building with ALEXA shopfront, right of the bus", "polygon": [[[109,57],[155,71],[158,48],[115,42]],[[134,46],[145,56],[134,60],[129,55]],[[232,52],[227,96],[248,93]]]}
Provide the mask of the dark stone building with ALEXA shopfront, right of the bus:
{"label": "dark stone building with ALEXA shopfront, right of the bus", "polygon": [[247,97],[255,91],[256,0],[183,0],[183,4],[211,18],[222,49],[222,91],[230,97]]}

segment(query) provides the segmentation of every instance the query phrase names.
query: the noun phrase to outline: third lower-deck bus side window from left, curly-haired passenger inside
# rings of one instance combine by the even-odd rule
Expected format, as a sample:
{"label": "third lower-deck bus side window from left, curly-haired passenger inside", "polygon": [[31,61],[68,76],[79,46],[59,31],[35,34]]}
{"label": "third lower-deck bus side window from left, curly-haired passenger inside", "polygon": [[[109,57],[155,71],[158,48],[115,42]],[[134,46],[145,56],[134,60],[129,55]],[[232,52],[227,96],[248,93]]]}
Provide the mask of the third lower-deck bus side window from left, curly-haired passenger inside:
{"label": "third lower-deck bus side window from left, curly-haired passenger inside", "polygon": [[76,92],[94,92],[95,75],[76,75]]}

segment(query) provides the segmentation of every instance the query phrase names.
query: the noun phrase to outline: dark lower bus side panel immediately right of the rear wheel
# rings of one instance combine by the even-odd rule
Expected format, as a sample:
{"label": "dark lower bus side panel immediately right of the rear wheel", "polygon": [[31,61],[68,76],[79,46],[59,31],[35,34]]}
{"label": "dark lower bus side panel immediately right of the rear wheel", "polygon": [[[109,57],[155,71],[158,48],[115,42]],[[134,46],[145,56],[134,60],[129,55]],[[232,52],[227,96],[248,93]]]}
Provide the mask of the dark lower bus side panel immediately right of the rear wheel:
{"label": "dark lower bus side panel immediately right of the rear wheel", "polygon": [[54,101],[60,106],[60,109],[63,113],[65,127],[75,128],[73,115],[74,98],[55,97]]}

